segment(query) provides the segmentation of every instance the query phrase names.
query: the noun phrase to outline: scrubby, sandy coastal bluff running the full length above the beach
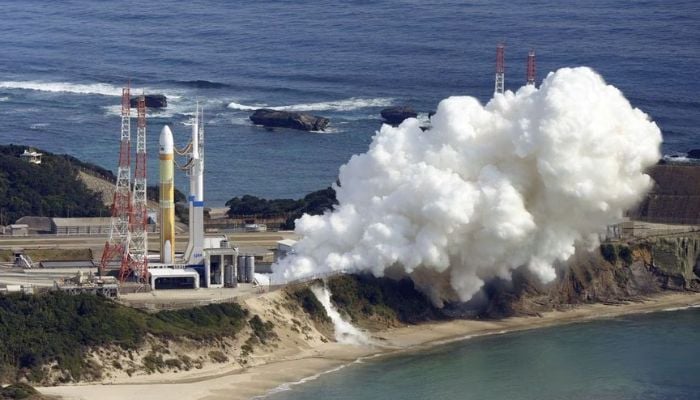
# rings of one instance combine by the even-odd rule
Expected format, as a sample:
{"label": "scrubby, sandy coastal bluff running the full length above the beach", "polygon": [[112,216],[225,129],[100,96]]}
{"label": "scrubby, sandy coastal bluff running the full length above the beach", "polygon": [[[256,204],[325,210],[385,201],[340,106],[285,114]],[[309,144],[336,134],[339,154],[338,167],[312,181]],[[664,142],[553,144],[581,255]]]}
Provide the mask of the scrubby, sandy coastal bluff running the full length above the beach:
{"label": "scrubby, sandy coastal bluff running the full length above the beach", "polygon": [[[347,275],[326,282],[338,311],[356,326],[386,332],[446,320],[494,320],[577,305],[636,302],[663,291],[699,291],[700,236],[607,243],[537,283],[519,270],[490,281],[468,303],[436,307],[408,279]],[[240,304],[146,313],[90,296],[0,295],[0,383],[133,382],[152,374],[220,374],[335,340],[311,282]],[[198,372],[198,370],[201,370]],[[191,372],[188,372],[191,371]]]}

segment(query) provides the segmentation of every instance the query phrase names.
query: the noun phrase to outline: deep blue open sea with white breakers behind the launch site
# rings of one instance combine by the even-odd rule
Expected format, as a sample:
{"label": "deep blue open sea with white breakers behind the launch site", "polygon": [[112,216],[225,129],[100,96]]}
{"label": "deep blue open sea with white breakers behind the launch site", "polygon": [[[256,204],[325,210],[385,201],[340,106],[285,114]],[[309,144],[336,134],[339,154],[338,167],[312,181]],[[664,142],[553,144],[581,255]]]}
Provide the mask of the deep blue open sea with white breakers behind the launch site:
{"label": "deep blue open sea with white breakers behind the launch site", "polygon": [[[379,110],[423,114],[451,95],[488,101],[495,46],[506,87],[537,51],[547,71],[588,65],[662,128],[664,152],[700,147],[700,3],[613,1],[0,1],[0,143],[116,169],[120,87],[165,93],[149,115],[149,176],[163,124],[184,145],[206,113],[206,199],[300,197],[364,152]],[[255,127],[249,109],[329,117],[326,133]],[[153,180],[152,180],[153,182]],[[180,187],[184,179],[179,178]]]}

